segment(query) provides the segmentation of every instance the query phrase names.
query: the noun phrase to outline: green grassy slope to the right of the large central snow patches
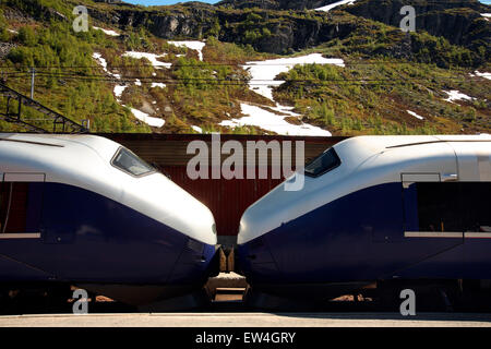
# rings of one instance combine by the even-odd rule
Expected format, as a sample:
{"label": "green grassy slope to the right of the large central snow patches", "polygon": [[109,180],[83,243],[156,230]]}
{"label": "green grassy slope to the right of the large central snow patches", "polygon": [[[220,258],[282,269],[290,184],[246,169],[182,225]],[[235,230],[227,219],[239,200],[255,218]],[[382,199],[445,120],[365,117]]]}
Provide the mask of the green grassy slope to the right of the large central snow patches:
{"label": "green grassy slope to the right of the large central snow patches", "polygon": [[[491,84],[487,80],[477,83],[465,70],[355,61],[346,68],[296,67],[279,79],[287,82],[276,89],[276,98],[295,105],[304,115],[303,121],[335,134],[475,133],[489,132],[491,125]],[[443,93],[450,89],[476,100],[450,104]]]}

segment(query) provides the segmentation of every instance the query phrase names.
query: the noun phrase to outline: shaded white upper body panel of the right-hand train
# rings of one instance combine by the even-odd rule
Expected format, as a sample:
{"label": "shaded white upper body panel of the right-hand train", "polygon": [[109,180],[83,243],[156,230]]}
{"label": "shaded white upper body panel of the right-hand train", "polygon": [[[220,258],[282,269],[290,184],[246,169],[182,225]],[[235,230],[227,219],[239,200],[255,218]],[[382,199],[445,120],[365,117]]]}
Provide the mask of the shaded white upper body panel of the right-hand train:
{"label": "shaded white upper body panel of the right-hand train", "polygon": [[[488,176],[488,171],[491,172],[488,168],[491,167],[489,135],[455,139],[359,136],[334,145],[334,149],[340,158],[340,166],[318,178],[306,176],[304,186],[300,191],[285,191],[285,183],[282,183],[251,205],[240,221],[238,243],[253,240],[356,191],[402,182],[404,173],[434,173],[442,179],[456,177],[466,181],[491,181]],[[463,159],[474,169],[459,166],[456,153],[463,154]]]}

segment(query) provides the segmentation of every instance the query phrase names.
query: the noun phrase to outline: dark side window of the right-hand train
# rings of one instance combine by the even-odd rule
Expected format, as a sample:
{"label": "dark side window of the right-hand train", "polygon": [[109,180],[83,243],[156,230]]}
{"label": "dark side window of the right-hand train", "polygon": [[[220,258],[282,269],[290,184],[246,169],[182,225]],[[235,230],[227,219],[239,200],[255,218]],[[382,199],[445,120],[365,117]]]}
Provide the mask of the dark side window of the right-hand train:
{"label": "dark side window of the right-hand train", "polygon": [[490,195],[491,182],[415,182],[403,194],[405,230],[487,231]]}

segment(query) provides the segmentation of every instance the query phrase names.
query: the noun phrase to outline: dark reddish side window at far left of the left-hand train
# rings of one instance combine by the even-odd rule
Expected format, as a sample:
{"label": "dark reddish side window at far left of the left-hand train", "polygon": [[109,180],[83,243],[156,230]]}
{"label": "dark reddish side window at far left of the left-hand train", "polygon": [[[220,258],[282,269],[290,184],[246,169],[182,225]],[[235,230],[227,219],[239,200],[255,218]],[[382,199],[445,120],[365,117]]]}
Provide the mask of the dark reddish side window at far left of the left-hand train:
{"label": "dark reddish side window at far left of the left-hand train", "polygon": [[4,173],[0,182],[0,239],[40,238],[45,176]]}

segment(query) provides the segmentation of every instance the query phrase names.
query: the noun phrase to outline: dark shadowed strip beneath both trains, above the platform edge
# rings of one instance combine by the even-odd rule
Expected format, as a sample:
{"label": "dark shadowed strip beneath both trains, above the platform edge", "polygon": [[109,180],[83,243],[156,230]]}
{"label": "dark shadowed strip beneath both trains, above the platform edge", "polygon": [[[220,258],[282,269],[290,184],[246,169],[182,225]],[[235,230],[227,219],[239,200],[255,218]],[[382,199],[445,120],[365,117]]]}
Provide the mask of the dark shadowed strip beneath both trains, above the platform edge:
{"label": "dark shadowed strip beneath both trains, above the platform edge", "polygon": [[[219,298],[209,299],[201,294],[201,302],[192,306],[178,306],[175,302],[171,308],[143,309],[128,305],[104,296],[95,296],[88,299],[87,310],[91,314],[144,314],[144,313],[267,313],[287,317],[304,317],[319,320],[391,320],[391,321],[472,321],[491,322],[491,306],[475,299],[478,302],[463,304],[450,310],[428,308],[423,303],[417,304],[416,315],[403,316],[399,304],[390,309],[381,306],[372,299],[348,299],[340,301],[311,302],[306,299],[282,299],[271,294],[255,293],[254,298],[247,298],[239,293],[221,294]],[[351,297],[352,298],[352,297]],[[52,301],[43,297],[20,297],[14,301],[0,306],[0,315],[21,314],[72,314],[74,299],[58,299]]]}

